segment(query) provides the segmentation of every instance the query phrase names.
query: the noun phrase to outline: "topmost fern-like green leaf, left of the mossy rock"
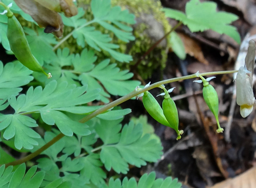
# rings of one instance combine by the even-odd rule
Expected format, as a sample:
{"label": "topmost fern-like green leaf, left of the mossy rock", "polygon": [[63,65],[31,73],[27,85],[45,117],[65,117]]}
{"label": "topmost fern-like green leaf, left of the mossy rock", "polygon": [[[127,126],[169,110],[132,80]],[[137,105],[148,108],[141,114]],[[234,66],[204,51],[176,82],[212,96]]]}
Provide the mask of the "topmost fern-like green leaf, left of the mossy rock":
{"label": "topmost fern-like green leaf, left of the mossy rock", "polygon": [[133,59],[130,55],[115,51],[119,46],[109,43],[112,41],[112,38],[108,34],[102,34],[96,31],[95,27],[88,27],[87,25],[88,23],[96,22],[105,29],[112,31],[120,40],[129,42],[135,38],[131,33],[132,28],[124,23],[134,24],[134,15],[130,14],[128,10],[122,11],[118,6],[111,7],[110,0],[92,0],[91,9],[94,19],[89,22],[86,22],[82,18],[85,13],[82,8],[79,9],[77,16],[71,18],[63,17],[65,25],[75,28],[72,35],[77,39],[77,44],[84,48],[86,42],[97,51],[101,51],[100,49],[107,51],[113,58],[120,62],[128,63],[132,61]]}

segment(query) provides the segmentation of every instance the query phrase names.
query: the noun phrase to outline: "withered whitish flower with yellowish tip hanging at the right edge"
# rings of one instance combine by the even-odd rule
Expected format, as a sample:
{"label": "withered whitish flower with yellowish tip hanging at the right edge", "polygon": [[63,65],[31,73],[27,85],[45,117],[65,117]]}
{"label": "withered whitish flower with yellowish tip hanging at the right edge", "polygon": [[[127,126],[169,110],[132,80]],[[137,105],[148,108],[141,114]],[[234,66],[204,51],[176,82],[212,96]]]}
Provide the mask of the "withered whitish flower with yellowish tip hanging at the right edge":
{"label": "withered whitish flower with yellowish tip hanging at the right edge", "polygon": [[240,106],[240,114],[243,118],[251,114],[255,102],[253,92],[254,60],[255,42],[250,40],[245,66],[239,68],[236,76],[236,103]]}

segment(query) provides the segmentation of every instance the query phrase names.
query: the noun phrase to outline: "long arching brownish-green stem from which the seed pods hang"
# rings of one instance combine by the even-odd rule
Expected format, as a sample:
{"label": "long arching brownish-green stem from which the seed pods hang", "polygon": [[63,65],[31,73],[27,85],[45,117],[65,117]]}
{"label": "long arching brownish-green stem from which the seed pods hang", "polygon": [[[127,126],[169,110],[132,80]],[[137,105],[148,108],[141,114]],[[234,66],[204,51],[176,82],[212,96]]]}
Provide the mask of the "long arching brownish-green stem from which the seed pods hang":
{"label": "long arching brownish-green stem from which the seed pods hang", "polygon": [[[217,74],[231,74],[231,73],[235,73],[238,70],[225,70],[225,71],[215,71],[215,72],[205,72],[205,73],[200,73],[201,76],[207,76],[207,75],[217,75]],[[191,74],[191,75],[187,75],[187,76],[181,76],[181,77],[177,77],[177,78],[171,78],[171,79],[167,79],[167,80],[163,80],[163,81],[159,81],[155,84],[149,85],[148,87],[145,88],[141,88],[139,90],[134,90],[131,93],[119,98],[116,101],[113,101],[112,103],[108,103],[105,106],[99,108],[98,110],[94,111],[93,113],[89,114],[88,116],[82,118],[81,120],[79,120],[79,122],[84,123],[88,120],[91,120],[92,118],[98,116],[99,114],[105,112],[106,110],[109,110],[115,106],[117,106],[120,103],[123,103],[125,101],[128,101],[129,99],[132,99],[133,97],[138,96],[141,93],[144,93],[145,91],[151,90],[153,88],[159,87],[160,85],[163,84],[168,84],[168,83],[172,83],[172,82],[177,82],[177,81],[182,81],[182,80],[187,80],[187,79],[192,79],[192,78],[197,78],[198,74]],[[42,146],[41,148],[39,148],[36,152],[29,154],[19,160],[7,163],[5,165],[5,167],[8,167],[10,165],[19,165],[21,163],[24,163],[28,160],[31,160],[32,158],[38,156],[40,153],[42,153],[43,151],[45,151],[47,148],[49,148],[51,145],[55,144],[59,139],[61,139],[62,137],[64,137],[65,135],[63,135],[62,133],[60,133],[59,135],[57,135],[56,137],[54,137],[51,141],[49,141],[47,144],[45,144],[44,146]],[[97,151],[98,148],[94,149],[93,151]]]}

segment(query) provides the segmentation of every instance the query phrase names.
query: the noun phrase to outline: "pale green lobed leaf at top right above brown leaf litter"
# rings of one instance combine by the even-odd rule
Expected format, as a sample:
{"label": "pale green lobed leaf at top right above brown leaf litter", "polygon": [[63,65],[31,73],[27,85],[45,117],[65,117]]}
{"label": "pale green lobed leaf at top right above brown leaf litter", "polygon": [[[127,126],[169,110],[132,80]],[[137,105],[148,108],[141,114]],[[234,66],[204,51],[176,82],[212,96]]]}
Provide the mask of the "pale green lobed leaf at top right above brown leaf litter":
{"label": "pale green lobed leaf at top right above brown leaf litter", "polygon": [[182,21],[187,25],[191,32],[202,32],[212,29],[219,34],[227,34],[240,44],[240,35],[234,26],[228,25],[238,17],[231,13],[217,12],[215,2],[200,2],[199,0],[190,0],[186,4],[186,14],[164,8],[163,11],[167,17]]}

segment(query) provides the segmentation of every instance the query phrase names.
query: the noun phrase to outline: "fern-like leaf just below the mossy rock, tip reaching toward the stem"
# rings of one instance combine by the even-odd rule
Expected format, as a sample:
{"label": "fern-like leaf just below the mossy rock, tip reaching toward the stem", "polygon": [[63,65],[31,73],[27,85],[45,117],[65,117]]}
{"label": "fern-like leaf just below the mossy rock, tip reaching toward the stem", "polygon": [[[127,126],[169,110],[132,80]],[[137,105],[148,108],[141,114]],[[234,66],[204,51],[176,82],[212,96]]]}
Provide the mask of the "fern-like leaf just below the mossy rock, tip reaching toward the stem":
{"label": "fern-like leaf just below the mossy rock, tip reaching toward the stem", "polygon": [[[79,80],[82,85],[88,85],[87,91],[100,89],[100,96],[97,99],[104,103],[109,102],[107,99],[110,97],[109,94],[124,96],[132,92],[137,85],[140,85],[139,81],[129,80],[133,77],[133,73],[128,72],[128,70],[120,70],[116,64],[109,64],[109,59],[103,60],[95,66],[97,57],[93,51],[84,49],[80,55],[68,54],[67,48],[62,51],[58,50],[57,56],[53,58],[51,63],[44,66],[47,72],[52,73],[52,79],[77,85],[79,85],[77,82]],[[72,65],[74,70],[65,67]],[[41,82],[49,82],[45,76],[36,76],[36,78]]]}

